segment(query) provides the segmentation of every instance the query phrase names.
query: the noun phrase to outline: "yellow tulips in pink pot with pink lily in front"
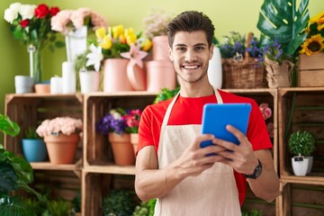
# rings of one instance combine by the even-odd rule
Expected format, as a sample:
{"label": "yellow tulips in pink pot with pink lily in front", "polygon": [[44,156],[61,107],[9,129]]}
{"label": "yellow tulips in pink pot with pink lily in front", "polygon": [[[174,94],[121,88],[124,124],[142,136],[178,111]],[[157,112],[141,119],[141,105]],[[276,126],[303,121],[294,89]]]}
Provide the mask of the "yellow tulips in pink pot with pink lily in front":
{"label": "yellow tulips in pink pot with pink lily in front", "polygon": [[100,28],[95,35],[104,58],[103,92],[145,90],[142,58],[151,49],[151,41],[123,25]]}

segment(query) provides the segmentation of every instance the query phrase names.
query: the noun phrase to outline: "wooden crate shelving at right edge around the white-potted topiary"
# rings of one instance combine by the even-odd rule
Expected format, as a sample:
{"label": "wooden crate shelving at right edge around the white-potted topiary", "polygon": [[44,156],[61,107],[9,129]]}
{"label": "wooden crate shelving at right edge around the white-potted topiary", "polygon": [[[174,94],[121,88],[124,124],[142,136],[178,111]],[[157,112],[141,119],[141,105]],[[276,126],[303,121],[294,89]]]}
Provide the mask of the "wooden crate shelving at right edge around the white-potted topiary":
{"label": "wooden crate shelving at right edge around the white-potted topiary", "polygon": [[[324,87],[293,87],[278,89],[278,123],[279,123],[279,161],[280,161],[280,191],[277,215],[320,215],[322,210],[311,204],[310,191],[301,192],[304,199],[295,201],[296,193],[293,186],[324,185],[324,171],[322,168],[324,158]],[[317,149],[313,153],[314,162],[311,174],[306,176],[293,175],[291,154],[288,149],[290,134],[296,130],[308,130],[317,136]],[[312,194],[312,193],[311,193]],[[323,196],[323,190],[317,196]]]}

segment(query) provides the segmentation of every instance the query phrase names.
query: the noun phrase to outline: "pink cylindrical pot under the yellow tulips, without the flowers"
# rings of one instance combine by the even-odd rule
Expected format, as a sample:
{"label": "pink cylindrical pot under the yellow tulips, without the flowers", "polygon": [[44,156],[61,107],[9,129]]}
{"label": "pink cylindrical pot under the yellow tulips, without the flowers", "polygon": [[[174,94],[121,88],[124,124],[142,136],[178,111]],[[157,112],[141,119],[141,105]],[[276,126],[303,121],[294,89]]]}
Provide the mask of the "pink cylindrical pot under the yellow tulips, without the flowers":
{"label": "pink cylindrical pot under the yellow tulips, without the flowers", "polygon": [[103,63],[103,92],[132,91],[127,76],[129,59],[108,58]]}

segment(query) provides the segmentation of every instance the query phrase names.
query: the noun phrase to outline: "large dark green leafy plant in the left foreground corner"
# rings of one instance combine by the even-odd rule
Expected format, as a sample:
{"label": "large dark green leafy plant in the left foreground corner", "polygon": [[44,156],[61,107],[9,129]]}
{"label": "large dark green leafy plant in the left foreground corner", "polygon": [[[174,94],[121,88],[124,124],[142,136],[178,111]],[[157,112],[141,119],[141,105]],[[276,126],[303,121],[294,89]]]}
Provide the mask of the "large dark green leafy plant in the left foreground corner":
{"label": "large dark green leafy plant in the left foreground corner", "polygon": [[[0,131],[16,136],[20,132],[20,127],[8,116],[0,114]],[[33,193],[40,201],[44,201],[44,197],[29,186],[32,181],[31,165],[23,157],[17,157],[14,153],[5,150],[0,144],[0,215],[36,216],[21,197],[13,195],[15,190],[21,189]]]}

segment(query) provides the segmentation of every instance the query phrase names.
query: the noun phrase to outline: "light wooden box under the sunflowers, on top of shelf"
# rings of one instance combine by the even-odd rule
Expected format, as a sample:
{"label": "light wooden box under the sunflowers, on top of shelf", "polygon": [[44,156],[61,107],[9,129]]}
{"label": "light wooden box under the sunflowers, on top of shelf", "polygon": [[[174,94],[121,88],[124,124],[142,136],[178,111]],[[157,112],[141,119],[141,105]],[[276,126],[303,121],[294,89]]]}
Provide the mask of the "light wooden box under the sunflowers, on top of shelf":
{"label": "light wooden box under the sunflowers, on top of shelf", "polygon": [[324,86],[324,53],[299,58],[298,86]]}

